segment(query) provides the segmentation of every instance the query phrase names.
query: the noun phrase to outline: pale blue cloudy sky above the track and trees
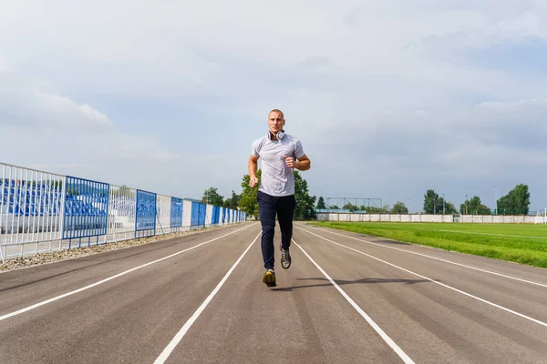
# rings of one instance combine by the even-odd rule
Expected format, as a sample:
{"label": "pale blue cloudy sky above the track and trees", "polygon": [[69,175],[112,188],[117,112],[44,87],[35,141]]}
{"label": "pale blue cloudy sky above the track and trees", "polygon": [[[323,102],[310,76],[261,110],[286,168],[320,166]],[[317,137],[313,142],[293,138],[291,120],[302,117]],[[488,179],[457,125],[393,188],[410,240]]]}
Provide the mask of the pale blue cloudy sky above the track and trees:
{"label": "pale blue cloudy sky above the track and trees", "polygon": [[267,114],[315,197],[547,207],[547,3],[0,0],[0,162],[242,191]]}

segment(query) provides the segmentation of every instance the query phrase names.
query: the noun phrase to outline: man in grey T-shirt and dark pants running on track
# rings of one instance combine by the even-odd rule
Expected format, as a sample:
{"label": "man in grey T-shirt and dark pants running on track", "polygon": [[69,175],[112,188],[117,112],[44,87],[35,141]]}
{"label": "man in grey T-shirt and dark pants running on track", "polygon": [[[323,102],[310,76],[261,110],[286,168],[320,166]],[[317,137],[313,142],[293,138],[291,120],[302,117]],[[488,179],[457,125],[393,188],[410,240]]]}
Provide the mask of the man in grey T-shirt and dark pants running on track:
{"label": "man in grey T-shirt and dark pants running on track", "polygon": [[284,132],[285,119],[281,110],[274,109],[268,114],[269,130],[266,136],[256,139],[249,158],[249,186],[258,185],[256,171],[258,159],[262,158],[262,176],[257,192],[258,212],[262,224],[262,253],[266,272],[263,282],[275,287],[274,270],[274,229],[275,216],[281,230],[281,267],[291,266],[289,247],[293,238],[294,168],[307,170],[310,160],[304,154],[299,139]]}

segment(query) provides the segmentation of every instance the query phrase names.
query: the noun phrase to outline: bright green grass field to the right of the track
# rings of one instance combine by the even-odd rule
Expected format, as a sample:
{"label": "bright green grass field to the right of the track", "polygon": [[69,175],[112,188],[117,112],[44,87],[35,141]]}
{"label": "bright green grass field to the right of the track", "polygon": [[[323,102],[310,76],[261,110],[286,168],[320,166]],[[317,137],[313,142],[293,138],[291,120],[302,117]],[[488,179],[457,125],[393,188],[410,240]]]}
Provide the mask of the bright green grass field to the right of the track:
{"label": "bright green grass field to the right of the track", "polygon": [[336,221],[311,224],[547,268],[547,225]]}

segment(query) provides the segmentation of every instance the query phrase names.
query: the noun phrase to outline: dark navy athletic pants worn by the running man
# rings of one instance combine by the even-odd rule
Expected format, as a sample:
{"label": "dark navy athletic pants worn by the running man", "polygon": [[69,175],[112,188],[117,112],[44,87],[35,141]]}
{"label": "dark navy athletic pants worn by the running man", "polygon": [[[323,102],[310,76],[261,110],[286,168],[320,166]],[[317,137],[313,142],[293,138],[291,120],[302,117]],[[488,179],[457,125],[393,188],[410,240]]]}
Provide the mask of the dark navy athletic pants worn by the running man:
{"label": "dark navy athletic pants worn by the running man", "polygon": [[274,197],[258,191],[258,213],[262,224],[262,251],[264,268],[274,268],[274,229],[275,215],[281,229],[281,244],[283,248],[289,248],[293,238],[293,216],[296,199],[294,195]]}

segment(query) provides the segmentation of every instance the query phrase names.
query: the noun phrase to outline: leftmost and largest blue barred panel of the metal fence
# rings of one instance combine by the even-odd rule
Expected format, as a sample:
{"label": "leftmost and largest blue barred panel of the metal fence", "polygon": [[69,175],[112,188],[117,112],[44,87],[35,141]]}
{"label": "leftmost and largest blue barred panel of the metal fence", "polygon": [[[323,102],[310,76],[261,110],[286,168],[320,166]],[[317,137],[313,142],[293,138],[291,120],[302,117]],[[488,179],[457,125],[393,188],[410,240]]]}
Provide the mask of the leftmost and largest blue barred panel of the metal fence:
{"label": "leftmost and largest blue barred panel of the metal fence", "polygon": [[[67,176],[65,191],[62,238],[90,238],[106,235],[110,185]],[[71,245],[70,243],[69,248]]]}

